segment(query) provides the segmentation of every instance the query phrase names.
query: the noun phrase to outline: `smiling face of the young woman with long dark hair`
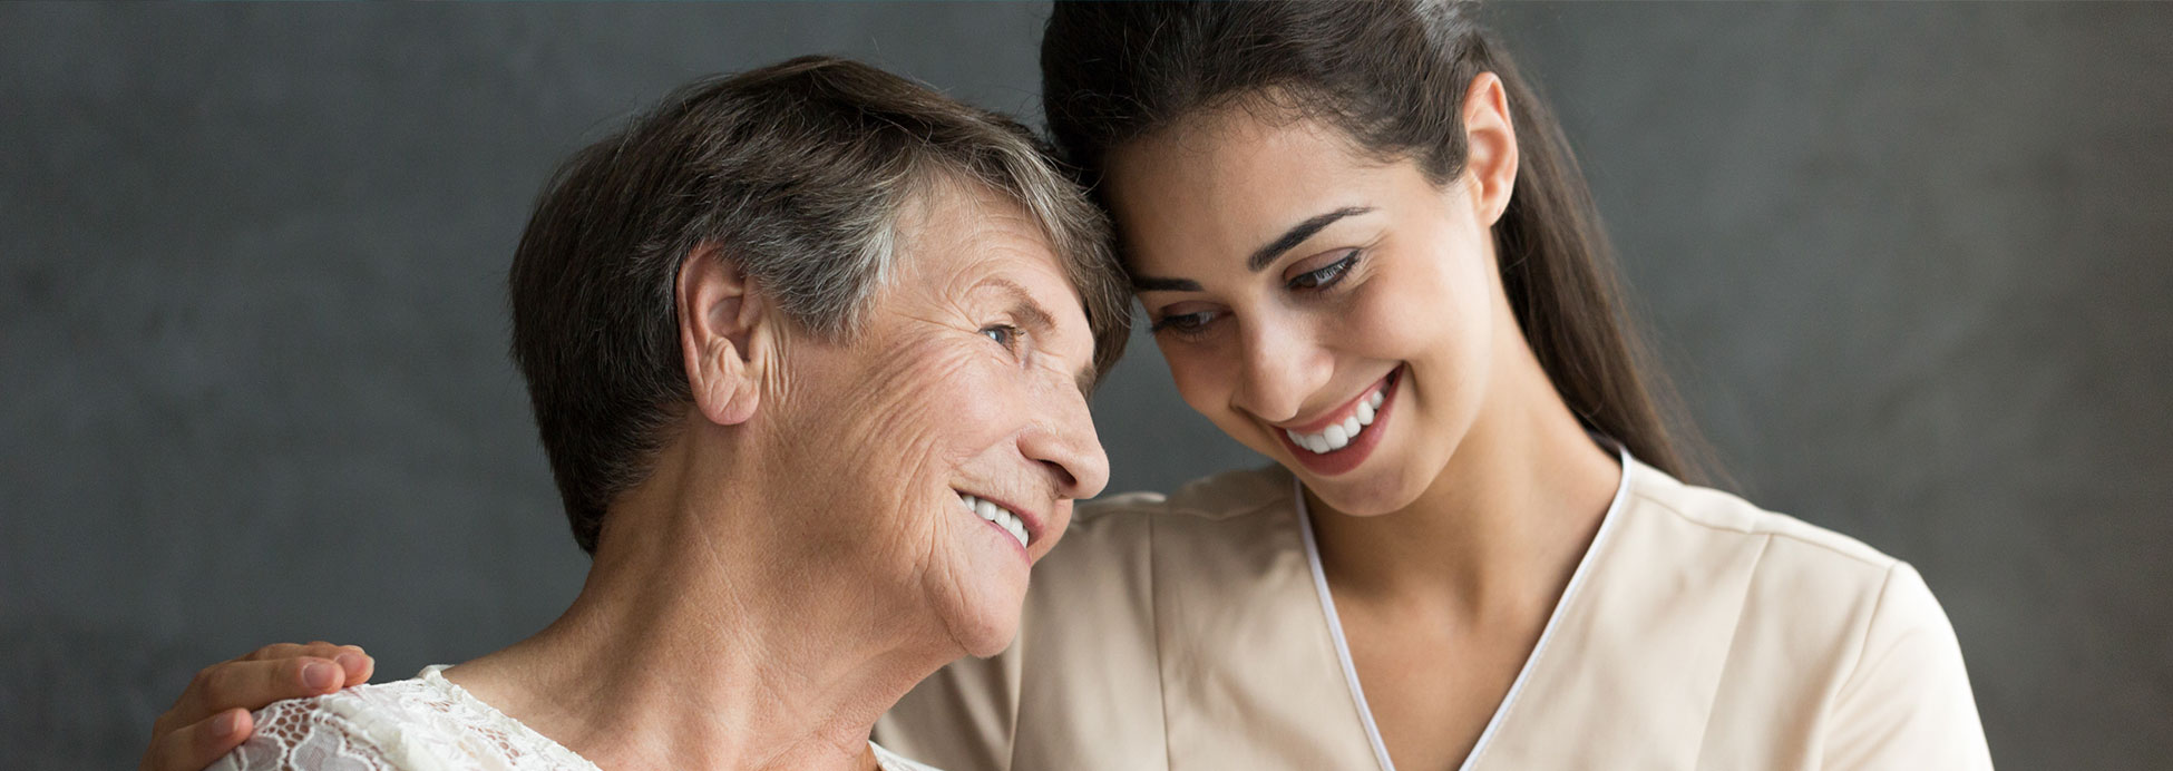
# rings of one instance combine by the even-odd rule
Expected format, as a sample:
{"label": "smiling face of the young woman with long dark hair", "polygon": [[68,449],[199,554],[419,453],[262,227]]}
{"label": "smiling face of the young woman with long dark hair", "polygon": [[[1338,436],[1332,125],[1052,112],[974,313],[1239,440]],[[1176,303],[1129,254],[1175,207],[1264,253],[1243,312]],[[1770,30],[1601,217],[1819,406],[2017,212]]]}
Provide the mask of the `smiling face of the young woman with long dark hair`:
{"label": "smiling face of the young woman with long dark hair", "polygon": [[[1336,510],[1417,500],[1521,343],[1489,232],[1506,185],[1480,167],[1502,154],[1475,146],[1434,185],[1328,124],[1245,109],[1113,152],[1110,208],[1184,400]],[[1515,178],[1512,139],[1506,161]]]}

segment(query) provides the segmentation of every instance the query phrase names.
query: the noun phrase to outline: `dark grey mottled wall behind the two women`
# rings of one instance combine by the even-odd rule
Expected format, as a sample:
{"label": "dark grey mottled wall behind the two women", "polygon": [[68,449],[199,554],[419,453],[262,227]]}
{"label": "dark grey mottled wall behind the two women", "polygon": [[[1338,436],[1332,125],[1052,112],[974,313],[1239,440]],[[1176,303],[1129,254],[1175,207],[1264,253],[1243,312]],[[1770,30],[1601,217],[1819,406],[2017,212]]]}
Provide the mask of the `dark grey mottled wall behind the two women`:
{"label": "dark grey mottled wall behind the two women", "polygon": [[[0,767],[259,643],[382,673],[585,560],[502,356],[550,167],[802,52],[1030,113],[1039,4],[0,7]],[[1736,486],[1917,563],[1995,758],[2173,751],[2173,7],[1508,7]],[[1117,489],[1254,463],[1141,343]]]}

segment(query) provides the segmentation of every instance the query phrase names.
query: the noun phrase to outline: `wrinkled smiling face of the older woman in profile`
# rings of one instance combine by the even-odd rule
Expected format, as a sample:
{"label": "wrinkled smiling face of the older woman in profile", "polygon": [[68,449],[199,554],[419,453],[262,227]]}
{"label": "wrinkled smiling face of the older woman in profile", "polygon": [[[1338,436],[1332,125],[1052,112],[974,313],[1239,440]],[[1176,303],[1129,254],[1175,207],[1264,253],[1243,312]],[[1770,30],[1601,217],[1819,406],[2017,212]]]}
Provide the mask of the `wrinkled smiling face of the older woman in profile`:
{"label": "wrinkled smiling face of the older woman in profile", "polygon": [[939,187],[850,343],[784,347],[778,428],[832,569],[921,606],[969,654],[1017,632],[1026,578],[1108,480],[1086,415],[1093,334],[1026,211]]}

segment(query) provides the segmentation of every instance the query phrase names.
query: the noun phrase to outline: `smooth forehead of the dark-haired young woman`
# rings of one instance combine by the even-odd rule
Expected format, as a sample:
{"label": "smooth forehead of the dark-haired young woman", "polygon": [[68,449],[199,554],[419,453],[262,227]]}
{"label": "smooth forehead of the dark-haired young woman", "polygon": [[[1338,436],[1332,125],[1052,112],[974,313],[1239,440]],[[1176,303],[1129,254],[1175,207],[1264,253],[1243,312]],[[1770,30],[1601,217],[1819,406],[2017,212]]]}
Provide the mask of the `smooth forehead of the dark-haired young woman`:
{"label": "smooth forehead of the dark-haired young woman", "polygon": [[1134,267],[1171,271],[1206,256],[1228,263],[1323,211],[1369,204],[1406,165],[1317,119],[1226,106],[1117,148],[1106,182]]}

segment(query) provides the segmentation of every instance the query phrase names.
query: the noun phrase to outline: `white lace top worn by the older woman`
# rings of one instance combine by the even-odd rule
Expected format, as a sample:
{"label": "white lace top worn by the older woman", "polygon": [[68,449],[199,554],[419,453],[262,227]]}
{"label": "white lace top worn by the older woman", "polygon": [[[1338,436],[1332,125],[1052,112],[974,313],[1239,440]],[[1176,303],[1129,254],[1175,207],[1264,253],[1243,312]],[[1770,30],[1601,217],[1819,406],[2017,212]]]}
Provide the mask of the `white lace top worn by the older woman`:
{"label": "white lace top worn by the older woman", "polygon": [[[256,710],[256,734],[213,771],[598,771],[428,667]],[[871,745],[874,747],[874,745]],[[934,771],[874,747],[882,771]]]}

